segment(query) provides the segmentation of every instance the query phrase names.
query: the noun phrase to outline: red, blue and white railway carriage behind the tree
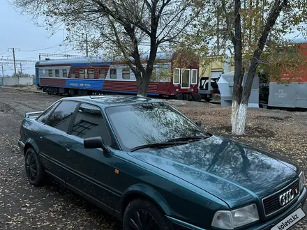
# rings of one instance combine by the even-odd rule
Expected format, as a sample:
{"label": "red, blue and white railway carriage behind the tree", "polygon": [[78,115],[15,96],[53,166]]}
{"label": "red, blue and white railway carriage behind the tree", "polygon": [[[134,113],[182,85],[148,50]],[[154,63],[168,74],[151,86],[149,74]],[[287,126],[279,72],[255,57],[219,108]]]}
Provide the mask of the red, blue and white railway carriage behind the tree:
{"label": "red, blue and white railway carriage behind the tree", "polygon": [[[157,56],[148,95],[186,100],[199,96],[198,63],[193,62],[187,66],[174,68],[175,56],[175,54]],[[38,89],[60,95],[137,93],[135,75],[126,63],[105,61],[98,57],[38,61],[36,84]]]}

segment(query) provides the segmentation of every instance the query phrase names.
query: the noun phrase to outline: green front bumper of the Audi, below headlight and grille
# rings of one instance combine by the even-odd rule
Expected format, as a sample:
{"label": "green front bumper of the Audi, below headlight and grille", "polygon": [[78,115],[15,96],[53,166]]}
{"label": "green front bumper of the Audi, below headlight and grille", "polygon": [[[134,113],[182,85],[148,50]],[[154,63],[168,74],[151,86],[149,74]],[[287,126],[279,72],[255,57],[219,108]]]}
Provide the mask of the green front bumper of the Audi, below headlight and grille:
{"label": "green front bumper of the Audi, below headlight and grille", "polygon": [[[285,210],[285,212],[281,213],[280,215],[274,217],[271,220],[268,220],[267,222],[259,222],[257,224],[253,224],[250,227],[241,227],[241,228],[237,228],[236,230],[270,230],[272,227],[274,227],[276,224],[278,224],[278,222],[280,222],[281,220],[283,220],[285,217],[287,217],[288,215],[290,215],[291,213],[293,213],[295,210],[297,210],[297,208],[303,207],[305,202],[306,202],[306,198],[307,198],[307,189],[306,187],[304,187],[303,192],[299,195],[299,199],[297,199],[297,201],[292,204],[292,206]],[[209,229],[202,229],[200,227],[194,226],[192,224],[188,224],[186,222],[183,222],[181,220],[177,220],[173,217],[169,217],[167,216],[167,219],[172,223],[172,230],[209,230]]]}

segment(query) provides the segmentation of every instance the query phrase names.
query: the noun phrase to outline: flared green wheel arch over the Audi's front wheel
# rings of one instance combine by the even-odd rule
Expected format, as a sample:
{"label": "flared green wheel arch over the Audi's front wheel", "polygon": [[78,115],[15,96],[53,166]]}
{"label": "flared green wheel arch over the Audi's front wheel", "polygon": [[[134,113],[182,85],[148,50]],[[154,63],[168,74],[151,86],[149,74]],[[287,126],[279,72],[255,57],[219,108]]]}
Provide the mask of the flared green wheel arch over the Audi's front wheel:
{"label": "flared green wheel arch over the Audi's front wheel", "polygon": [[[121,197],[121,210],[123,210],[123,206],[126,204],[127,200],[130,200],[131,197],[147,197],[147,199],[153,201],[156,205],[158,205],[166,215],[170,215],[172,211],[170,210],[170,206],[168,206],[167,201],[158,193],[153,187],[146,184],[135,184],[128,187],[128,189],[123,192],[123,196]],[[128,205],[128,204],[127,204]]]}

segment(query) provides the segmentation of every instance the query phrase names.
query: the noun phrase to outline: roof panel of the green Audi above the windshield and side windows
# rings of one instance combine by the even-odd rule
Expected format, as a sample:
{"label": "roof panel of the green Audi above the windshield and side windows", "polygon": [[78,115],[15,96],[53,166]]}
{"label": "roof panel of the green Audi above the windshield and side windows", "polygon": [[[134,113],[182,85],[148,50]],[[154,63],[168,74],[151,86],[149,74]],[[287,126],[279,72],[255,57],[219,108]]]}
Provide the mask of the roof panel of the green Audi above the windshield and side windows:
{"label": "roof panel of the green Audi above the windshield and side windows", "polygon": [[147,98],[147,97],[138,97],[135,95],[88,95],[88,96],[62,98],[61,100],[74,100],[77,102],[87,102],[87,103],[98,105],[100,107],[163,102],[163,100]]}

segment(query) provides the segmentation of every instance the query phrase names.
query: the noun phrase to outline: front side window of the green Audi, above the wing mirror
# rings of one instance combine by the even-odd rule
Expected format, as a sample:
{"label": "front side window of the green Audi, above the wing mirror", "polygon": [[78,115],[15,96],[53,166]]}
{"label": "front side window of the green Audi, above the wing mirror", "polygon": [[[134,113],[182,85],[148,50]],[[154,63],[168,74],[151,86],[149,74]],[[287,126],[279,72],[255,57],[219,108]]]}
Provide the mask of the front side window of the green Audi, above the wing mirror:
{"label": "front side window of the green Audi, above the wing mirror", "polygon": [[83,139],[88,137],[101,137],[105,145],[110,146],[111,143],[105,118],[101,110],[93,105],[80,105],[75,120],[73,121],[71,135]]}

